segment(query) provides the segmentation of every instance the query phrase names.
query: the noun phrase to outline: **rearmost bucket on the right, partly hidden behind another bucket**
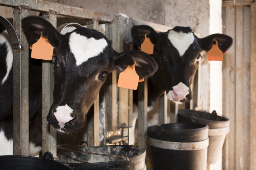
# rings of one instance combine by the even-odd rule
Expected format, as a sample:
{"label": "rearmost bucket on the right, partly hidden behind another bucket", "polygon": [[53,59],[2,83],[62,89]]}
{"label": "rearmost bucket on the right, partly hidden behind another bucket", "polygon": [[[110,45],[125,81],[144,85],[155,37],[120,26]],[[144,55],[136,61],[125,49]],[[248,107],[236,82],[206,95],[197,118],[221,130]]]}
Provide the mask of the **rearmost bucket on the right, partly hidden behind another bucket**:
{"label": "rearmost bucket on the right, partly hidden behind another bucket", "polygon": [[212,113],[181,109],[178,110],[178,122],[193,121],[196,123],[206,123],[209,126],[209,146],[207,152],[207,163],[215,164],[220,156],[226,134],[229,133],[229,119],[225,116]]}

